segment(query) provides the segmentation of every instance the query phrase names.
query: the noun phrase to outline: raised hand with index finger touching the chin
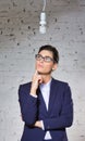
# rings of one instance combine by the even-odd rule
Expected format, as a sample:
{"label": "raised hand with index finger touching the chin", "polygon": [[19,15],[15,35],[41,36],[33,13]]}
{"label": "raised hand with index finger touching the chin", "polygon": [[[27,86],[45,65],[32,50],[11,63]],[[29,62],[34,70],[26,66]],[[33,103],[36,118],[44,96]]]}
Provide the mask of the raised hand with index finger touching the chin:
{"label": "raised hand with index finger touching the chin", "polygon": [[36,70],[33,76],[33,79],[32,79],[32,88],[31,88],[32,94],[34,94],[34,95],[36,94],[36,90],[37,90],[39,84],[41,84],[41,82],[42,82],[42,77]]}

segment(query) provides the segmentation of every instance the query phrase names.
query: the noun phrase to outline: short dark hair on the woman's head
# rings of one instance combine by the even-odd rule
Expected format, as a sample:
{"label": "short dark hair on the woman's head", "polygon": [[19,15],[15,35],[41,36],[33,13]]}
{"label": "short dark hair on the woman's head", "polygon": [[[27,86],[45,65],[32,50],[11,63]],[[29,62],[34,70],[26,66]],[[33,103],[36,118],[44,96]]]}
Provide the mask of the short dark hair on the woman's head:
{"label": "short dark hair on the woman's head", "polygon": [[58,52],[58,50],[57,50],[54,47],[52,47],[52,46],[50,46],[50,44],[41,46],[41,47],[39,48],[38,53],[39,53],[40,51],[42,51],[42,50],[51,51],[52,54],[53,54],[53,61],[54,61],[54,63],[59,63],[59,52]]}

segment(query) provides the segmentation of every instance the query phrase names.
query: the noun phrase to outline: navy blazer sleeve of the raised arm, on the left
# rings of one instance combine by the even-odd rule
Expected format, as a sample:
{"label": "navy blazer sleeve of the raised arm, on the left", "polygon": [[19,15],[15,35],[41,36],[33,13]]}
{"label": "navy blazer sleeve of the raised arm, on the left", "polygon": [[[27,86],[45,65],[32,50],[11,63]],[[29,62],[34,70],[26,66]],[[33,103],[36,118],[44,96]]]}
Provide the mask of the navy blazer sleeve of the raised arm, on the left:
{"label": "navy blazer sleeve of the raised arm, on the left", "polygon": [[19,102],[21,107],[22,119],[26,125],[33,126],[37,118],[37,98],[29,94],[29,88],[19,88]]}

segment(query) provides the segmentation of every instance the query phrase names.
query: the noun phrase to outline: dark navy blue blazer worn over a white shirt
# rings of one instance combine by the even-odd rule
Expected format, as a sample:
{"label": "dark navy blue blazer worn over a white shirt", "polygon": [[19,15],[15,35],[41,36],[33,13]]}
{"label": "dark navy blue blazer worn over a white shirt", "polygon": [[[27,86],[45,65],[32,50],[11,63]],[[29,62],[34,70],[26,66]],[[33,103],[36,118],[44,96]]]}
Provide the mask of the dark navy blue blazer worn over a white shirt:
{"label": "dark navy blue blazer worn over a white shirt", "polygon": [[[65,128],[73,121],[73,102],[69,85],[52,78],[48,111],[39,88],[37,98],[32,97],[29,91],[31,82],[20,86],[19,102],[25,123],[21,141],[42,141],[48,130],[52,137],[50,141],[68,141]],[[36,120],[44,120],[45,130],[34,127]]]}

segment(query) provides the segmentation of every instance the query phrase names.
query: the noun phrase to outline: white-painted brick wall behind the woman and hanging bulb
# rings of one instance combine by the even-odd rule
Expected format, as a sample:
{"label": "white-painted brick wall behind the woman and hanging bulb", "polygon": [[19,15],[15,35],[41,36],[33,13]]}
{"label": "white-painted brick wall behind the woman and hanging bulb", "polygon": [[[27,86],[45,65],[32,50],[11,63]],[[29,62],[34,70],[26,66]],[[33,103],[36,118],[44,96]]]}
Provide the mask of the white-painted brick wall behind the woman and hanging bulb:
{"label": "white-painted brick wall behind the woman and hanging bulb", "polygon": [[20,141],[19,85],[31,80],[34,55],[46,43],[60,52],[53,76],[72,88],[69,141],[85,141],[85,0],[47,0],[46,35],[38,31],[41,8],[39,0],[0,0],[0,141]]}

